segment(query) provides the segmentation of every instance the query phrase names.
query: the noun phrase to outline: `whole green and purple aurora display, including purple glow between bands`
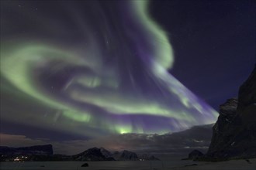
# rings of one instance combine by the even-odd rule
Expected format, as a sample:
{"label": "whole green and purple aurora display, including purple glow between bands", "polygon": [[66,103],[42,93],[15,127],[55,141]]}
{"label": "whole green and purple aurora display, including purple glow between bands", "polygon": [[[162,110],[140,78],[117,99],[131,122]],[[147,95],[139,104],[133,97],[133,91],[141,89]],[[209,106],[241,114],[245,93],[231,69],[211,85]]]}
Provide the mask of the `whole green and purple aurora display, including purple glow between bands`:
{"label": "whole green and purple aurora display, including purple glow between bands", "polygon": [[149,5],[2,2],[2,118],[86,137],[215,122],[216,110],[171,75],[175,49]]}

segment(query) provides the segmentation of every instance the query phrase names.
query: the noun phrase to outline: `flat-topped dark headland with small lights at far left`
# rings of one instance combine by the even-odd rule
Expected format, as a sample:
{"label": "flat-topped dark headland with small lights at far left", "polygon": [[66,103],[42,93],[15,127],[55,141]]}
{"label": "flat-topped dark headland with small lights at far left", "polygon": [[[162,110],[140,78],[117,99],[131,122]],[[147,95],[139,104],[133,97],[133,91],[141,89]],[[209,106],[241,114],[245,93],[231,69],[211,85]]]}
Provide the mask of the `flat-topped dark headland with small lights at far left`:
{"label": "flat-topped dark headland with small lights at far left", "polygon": [[37,145],[22,148],[0,146],[0,155],[53,155],[52,145]]}

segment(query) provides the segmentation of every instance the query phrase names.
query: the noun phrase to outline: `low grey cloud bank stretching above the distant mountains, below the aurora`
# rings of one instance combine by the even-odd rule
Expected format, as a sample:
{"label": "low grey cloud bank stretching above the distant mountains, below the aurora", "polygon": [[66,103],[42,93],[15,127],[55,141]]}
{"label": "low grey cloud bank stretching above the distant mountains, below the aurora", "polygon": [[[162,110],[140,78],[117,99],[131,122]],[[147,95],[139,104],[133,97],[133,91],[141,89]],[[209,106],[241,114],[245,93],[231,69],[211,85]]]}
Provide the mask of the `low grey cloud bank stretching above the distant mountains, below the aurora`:
{"label": "low grey cloud bank stretching above the distant mountains, below the aurora", "polygon": [[212,136],[212,126],[195,126],[173,134],[114,134],[90,140],[51,141],[47,138],[27,138],[24,135],[0,134],[1,145],[23,147],[30,145],[54,146],[55,154],[74,155],[92,147],[110,151],[130,150],[151,154],[187,154],[193,149],[206,151]]}

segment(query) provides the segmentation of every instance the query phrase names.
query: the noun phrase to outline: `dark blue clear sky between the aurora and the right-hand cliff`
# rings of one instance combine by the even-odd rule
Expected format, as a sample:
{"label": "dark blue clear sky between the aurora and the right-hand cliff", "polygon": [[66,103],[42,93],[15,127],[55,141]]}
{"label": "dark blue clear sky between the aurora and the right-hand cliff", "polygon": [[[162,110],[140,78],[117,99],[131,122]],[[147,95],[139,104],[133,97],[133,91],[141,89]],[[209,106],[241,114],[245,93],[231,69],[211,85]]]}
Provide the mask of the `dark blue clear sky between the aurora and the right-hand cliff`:
{"label": "dark blue clear sky between the aurora and the right-hand cliff", "polygon": [[170,73],[218,110],[256,62],[254,1],[154,1],[175,49]]}

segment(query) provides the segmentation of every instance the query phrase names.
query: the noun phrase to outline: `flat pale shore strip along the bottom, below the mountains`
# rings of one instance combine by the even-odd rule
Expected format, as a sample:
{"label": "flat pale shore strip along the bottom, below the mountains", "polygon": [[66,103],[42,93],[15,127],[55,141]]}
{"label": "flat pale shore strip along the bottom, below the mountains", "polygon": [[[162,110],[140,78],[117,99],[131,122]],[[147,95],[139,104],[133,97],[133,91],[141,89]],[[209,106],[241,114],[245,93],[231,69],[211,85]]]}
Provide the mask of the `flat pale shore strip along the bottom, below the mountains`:
{"label": "flat pale shore strip along the bottom, below the mountains", "polygon": [[193,162],[187,161],[145,161],[145,162],[87,162],[88,167],[81,167],[85,162],[1,162],[1,170],[76,170],[76,169],[88,169],[88,170],[255,170],[256,159],[250,159],[247,162],[244,159],[231,160],[227,162]]}

